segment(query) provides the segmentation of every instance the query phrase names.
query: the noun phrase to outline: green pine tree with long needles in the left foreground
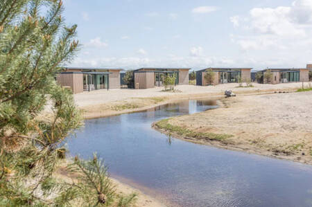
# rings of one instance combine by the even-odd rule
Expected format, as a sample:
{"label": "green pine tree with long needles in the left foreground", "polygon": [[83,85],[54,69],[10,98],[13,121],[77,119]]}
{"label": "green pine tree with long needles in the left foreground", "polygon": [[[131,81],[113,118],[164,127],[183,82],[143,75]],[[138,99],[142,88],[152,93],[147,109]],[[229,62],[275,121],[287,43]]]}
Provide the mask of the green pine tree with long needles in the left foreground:
{"label": "green pine tree with long needles in the left foreground", "polygon": [[77,26],[64,24],[63,10],[60,0],[0,1],[0,206],[108,206],[116,199],[96,156],[73,161],[76,182],[53,177],[66,137],[81,125],[72,94],[55,83],[78,51]]}

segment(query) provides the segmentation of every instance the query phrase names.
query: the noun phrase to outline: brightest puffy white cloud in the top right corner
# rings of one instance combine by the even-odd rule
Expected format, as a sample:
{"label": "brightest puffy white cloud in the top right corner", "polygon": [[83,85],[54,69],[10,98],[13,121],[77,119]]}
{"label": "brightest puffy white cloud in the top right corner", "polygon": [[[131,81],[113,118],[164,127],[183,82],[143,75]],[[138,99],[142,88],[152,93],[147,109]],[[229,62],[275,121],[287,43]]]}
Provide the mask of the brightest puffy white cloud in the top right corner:
{"label": "brightest puffy white cloud in the top right corner", "polygon": [[306,37],[306,28],[312,26],[312,0],[296,0],[291,6],[277,8],[252,8],[248,17],[234,16],[230,21],[234,27],[250,28],[259,34]]}

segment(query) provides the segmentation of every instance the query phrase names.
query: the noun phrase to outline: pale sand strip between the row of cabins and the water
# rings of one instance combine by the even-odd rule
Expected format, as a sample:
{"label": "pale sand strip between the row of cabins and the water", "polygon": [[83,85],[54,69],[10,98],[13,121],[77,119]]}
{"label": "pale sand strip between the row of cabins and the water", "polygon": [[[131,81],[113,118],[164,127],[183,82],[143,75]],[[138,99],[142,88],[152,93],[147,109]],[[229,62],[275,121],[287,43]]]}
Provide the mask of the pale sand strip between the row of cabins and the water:
{"label": "pale sand strip between the row of cabins and the water", "polygon": [[236,94],[250,95],[259,93],[274,93],[275,91],[294,91],[302,87],[301,83],[290,84],[254,84],[250,88],[238,88],[238,84],[219,84],[217,86],[198,87],[179,85],[178,92],[163,92],[162,87],[153,89],[114,89],[99,90],[75,94],[76,105],[83,111],[84,118],[99,118],[130,112],[142,111],[158,105],[177,100],[195,98],[220,98],[226,89]]}

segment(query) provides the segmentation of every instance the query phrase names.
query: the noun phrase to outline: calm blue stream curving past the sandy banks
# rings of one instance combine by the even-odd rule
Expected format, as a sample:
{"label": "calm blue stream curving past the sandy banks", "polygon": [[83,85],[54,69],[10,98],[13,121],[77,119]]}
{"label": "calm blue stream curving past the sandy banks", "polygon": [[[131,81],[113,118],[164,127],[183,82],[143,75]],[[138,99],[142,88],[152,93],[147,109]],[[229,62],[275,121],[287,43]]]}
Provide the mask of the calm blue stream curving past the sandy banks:
{"label": "calm blue stream curving past the sandy banks", "polygon": [[187,100],[135,114],[85,120],[71,154],[105,159],[112,177],[170,206],[312,206],[312,166],[168,138],[156,120],[215,108]]}

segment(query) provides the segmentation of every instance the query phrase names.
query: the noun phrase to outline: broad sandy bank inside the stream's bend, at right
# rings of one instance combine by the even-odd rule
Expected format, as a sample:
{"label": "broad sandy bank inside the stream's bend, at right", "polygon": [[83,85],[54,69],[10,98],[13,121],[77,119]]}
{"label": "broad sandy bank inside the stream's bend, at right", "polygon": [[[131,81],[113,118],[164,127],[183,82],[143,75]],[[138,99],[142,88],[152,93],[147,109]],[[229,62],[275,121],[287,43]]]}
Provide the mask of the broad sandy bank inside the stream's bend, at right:
{"label": "broad sandy bank inside the stream's bend, at right", "polygon": [[[238,96],[222,102],[218,109],[171,118],[155,127],[187,141],[312,164],[312,92]],[[189,131],[170,132],[174,127]],[[216,134],[232,137],[218,139]]]}

